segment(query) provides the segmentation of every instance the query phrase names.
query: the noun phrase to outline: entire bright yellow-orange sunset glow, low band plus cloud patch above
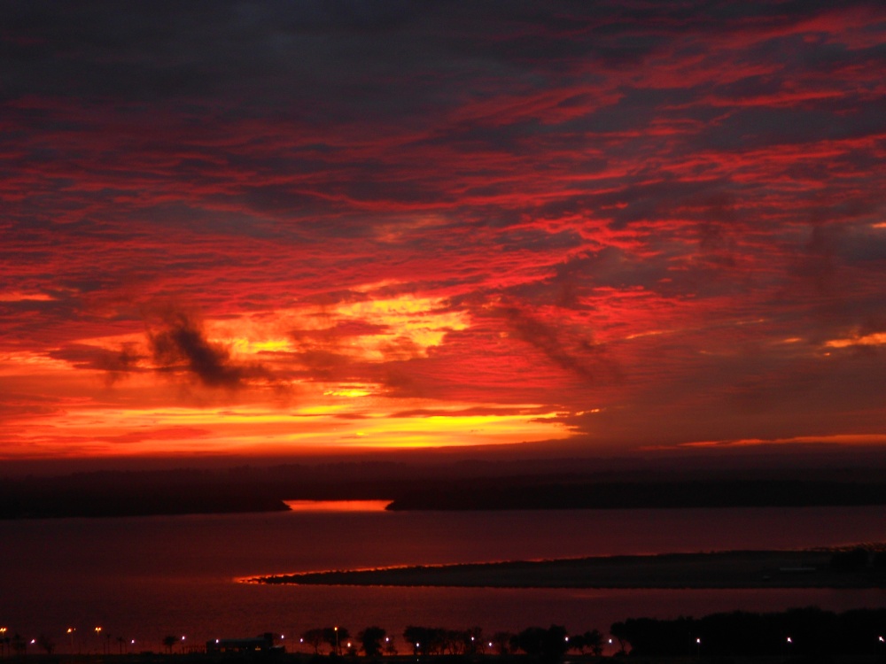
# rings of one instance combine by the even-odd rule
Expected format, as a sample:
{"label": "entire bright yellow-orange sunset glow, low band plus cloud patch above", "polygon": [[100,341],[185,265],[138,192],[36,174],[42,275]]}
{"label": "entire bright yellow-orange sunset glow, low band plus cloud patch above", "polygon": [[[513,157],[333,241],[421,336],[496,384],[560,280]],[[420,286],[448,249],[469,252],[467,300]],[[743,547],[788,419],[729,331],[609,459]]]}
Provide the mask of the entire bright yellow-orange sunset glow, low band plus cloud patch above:
{"label": "entire bright yellow-orange sunset glow, low band plus cloud patch above", "polygon": [[[117,328],[107,336],[73,340],[74,359],[53,359],[55,349],[10,349],[0,354],[0,374],[12,381],[8,384],[52,399],[49,407],[36,405],[4,420],[0,459],[442,448],[571,435],[557,413],[542,412],[539,405],[395,398],[380,383],[321,381],[323,374],[302,367],[312,352],[342,362],[424,356],[448,332],[470,326],[469,314],[451,310],[443,298],[371,298],[377,294],[339,305],[195,321],[207,344],[229,351],[221,361],[260,365],[275,376],[273,382],[244,381],[233,390],[207,388],[185,361],[170,370],[155,366],[151,337],[160,328],[123,333]],[[100,368],[101,360],[112,357],[104,353],[124,350],[125,368],[136,371]]]}

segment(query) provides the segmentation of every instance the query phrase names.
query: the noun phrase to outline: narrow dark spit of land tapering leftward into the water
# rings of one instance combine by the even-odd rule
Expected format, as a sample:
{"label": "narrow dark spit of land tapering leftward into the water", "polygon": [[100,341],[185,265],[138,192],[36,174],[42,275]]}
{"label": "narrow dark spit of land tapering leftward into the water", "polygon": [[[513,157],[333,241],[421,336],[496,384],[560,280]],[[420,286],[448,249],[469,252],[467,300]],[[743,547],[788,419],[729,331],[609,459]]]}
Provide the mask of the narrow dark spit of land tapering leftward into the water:
{"label": "narrow dark spit of land tapering leftward into the water", "polygon": [[886,570],[834,551],[731,551],[385,567],[257,576],[251,583],[475,588],[882,588]]}

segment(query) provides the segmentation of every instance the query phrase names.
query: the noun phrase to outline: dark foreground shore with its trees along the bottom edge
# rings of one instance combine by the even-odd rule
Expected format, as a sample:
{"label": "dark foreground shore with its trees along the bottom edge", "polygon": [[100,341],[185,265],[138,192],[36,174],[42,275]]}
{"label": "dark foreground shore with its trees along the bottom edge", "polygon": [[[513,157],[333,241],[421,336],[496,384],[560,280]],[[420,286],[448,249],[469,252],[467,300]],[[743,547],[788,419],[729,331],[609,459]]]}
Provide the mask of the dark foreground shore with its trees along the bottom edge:
{"label": "dark foreground shore with its trees along the bottom edge", "polygon": [[[732,611],[698,619],[627,618],[610,625],[609,639],[598,629],[570,632],[556,624],[488,636],[478,626],[460,630],[411,625],[403,630],[403,641],[385,638],[385,629],[380,627],[367,628],[357,635],[353,650],[340,651],[338,640],[330,636],[333,629],[338,635],[338,628],[327,627],[308,629],[304,644],[292,653],[285,652],[282,644],[275,642],[274,634],[268,632],[261,637],[223,639],[207,642],[205,648],[192,646],[167,654],[118,656],[106,651],[104,655],[50,654],[29,659],[36,659],[38,664],[357,664],[360,660],[379,664],[603,664],[619,660],[643,664],[883,664],[884,625],[886,608],[836,614],[808,606],[767,614]],[[312,637],[319,634],[323,634],[322,641]],[[383,638],[385,643],[390,641],[385,650],[398,644],[400,652],[406,654],[382,654]],[[330,654],[308,654],[310,650],[303,650],[310,649],[308,642],[313,652]],[[19,641],[19,645],[22,643]],[[347,646],[351,648],[352,644]],[[13,652],[15,659],[26,659],[24,648]],[[361,657],[361,652],[377,654]]]}

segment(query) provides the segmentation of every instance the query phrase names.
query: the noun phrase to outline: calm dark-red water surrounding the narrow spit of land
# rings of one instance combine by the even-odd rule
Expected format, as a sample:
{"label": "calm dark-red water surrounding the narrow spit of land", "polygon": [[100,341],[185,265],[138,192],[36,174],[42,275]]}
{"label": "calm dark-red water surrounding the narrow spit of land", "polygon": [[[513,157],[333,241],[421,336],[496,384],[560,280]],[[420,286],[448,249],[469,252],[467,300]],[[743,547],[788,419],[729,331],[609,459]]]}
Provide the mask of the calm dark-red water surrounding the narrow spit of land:
{"label": "calm dark-red water surrounding the narrow spit of land", "polygon": [[[884,591],[568,591],[260,586],[237,577],[345,567],[618,553],[798,548],[886,541],[886,508],[271,514],[0,522],[0,626],[60,650],[103,647],[94,628],[160,650],[289,637],[311,627],[557,622],[601,629],[628,616],[742,608],[886,606]],[[74,642],[65,630],[76,627]],[[130,646],[131,647],[131,646]]]}

